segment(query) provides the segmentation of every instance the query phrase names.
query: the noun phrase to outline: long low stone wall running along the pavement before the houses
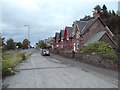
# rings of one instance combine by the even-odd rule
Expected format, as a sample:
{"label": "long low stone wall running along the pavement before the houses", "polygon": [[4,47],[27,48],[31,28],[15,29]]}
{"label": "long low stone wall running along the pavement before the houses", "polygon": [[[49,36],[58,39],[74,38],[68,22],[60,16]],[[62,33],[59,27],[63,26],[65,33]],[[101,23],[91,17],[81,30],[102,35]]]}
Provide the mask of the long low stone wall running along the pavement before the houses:
{"label": "long low stone wall running along the pavement before the houses", "polygon": [[99,66],[99,67],[105,67],[109,69],[118,69],[118,62],[115,60],[109,60],[109,59],[103,59],[99,54],[97,53],[82,53],[82,52],[70,52],[70,51],[64,51],[64,50],[52,50],[51,53],[53,54],[59,54],[60,56],[71,58],[73,60],[78,60],[81,62],[89,63],[91,65]]}

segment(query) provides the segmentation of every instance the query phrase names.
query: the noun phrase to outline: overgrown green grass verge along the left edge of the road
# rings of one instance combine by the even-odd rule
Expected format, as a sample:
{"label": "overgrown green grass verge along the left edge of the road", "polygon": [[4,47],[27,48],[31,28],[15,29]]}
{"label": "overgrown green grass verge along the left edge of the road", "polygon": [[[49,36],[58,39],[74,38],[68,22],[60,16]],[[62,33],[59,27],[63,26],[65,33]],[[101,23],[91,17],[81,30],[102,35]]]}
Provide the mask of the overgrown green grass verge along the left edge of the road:
{"label": "overgrown green grass verge along the left edge of the road", "polygon": [[14,56],[2,55],[2,76],[5,77],[15,74],[15,66],[30,55],[29,53],[18,53]]}

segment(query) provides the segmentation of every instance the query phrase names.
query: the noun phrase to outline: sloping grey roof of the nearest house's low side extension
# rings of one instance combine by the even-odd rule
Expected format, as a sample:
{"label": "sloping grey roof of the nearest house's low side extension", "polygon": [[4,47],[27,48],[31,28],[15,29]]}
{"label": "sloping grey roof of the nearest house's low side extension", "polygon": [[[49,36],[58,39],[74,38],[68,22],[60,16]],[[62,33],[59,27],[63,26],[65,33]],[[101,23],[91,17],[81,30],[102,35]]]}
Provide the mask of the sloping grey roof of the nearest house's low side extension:
{"label": "sloping grey roof of the nearest house's low side extension", "polygon": [[88,41],[85,42],[84,46],[99,41],[105,33],[106,31],[96,33],[95,35],[93,35],[93,37],[91,37],[90,39],[88,39]]}

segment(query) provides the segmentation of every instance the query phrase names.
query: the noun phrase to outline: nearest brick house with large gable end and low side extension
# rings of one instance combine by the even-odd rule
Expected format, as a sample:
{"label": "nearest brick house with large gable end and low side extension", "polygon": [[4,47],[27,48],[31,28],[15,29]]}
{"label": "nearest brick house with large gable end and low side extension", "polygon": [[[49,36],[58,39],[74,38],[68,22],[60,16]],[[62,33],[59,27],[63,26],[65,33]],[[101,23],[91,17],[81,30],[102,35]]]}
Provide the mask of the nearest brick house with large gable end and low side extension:
{"label": "nearest brick house with large gable end and low side extension", "polygon": [[74,51],[96,41],[103,41],[111,45],[113,48],[116,47],[116,43],[113,40],[113,33],[100,17],[93,17],[89,21],[73,22],[72,34],[74,38]]}

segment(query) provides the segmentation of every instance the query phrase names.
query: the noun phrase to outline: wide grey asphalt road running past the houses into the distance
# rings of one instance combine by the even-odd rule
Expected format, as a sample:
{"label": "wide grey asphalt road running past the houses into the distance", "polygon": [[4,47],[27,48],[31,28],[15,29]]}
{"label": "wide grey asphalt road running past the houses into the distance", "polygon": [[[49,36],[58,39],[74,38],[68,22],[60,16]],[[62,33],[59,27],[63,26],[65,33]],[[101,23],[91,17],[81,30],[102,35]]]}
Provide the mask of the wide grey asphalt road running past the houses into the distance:
{"label": "wide grey asphalt road running past the houses into the distance", "polygon": [[56,55],[41,56],[40,51],[35,49],[30,51],[33,54],[16,67],[18,72],[15,75],[3,81],[4,86],[7,88],[118,88],[116,78],[94,71],[93,68],[96,67],[87,64],[75,65]]}

